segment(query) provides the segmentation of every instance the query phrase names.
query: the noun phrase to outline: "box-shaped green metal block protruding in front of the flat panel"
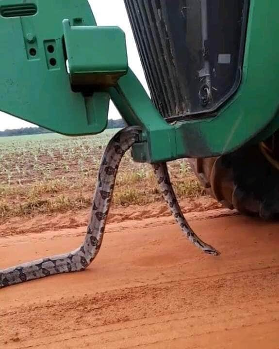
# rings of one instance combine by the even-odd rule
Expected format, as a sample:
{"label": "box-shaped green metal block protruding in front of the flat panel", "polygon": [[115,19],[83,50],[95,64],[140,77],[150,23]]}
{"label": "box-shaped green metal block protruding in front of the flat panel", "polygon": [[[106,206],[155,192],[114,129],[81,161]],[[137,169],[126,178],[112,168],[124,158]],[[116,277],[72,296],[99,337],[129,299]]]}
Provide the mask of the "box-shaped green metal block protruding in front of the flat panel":
{"label": "box-shaped green metal block protruding in front of the flat panel", "polygon": [[68,19],[63,21],[63,27],[73,86],[114,86],[127,74],[126,40],[120,28],[74,27]]}

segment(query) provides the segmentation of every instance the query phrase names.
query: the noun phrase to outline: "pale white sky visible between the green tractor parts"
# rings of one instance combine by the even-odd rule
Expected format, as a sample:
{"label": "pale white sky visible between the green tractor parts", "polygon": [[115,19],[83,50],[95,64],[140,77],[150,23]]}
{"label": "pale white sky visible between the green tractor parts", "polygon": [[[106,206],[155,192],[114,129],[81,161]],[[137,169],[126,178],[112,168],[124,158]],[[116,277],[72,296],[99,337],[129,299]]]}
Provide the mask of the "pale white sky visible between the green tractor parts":
{"label": "pale white sky visible between the green tractor parts", "polygon": [[[137,48],[131,31],[123,0],[89,0],[98,25],[118,26],[126,33],[129,65],[145,89],[148,91],[144,72],[140,63]],[[0,106],[1,109],[1,106]],[[109,118],[118,119],[120,116],[111,103]],[[0,131],[4,129],[30,127],[32,124],[17,119],[0,111]]]}

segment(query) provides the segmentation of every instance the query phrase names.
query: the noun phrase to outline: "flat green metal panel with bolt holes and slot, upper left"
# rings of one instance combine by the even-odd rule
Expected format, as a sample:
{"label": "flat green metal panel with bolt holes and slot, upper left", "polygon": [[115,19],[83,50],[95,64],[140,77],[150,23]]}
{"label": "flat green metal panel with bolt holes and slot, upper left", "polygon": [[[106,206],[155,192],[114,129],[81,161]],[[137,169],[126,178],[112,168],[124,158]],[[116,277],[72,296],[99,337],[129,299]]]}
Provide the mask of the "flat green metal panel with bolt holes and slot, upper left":
{"label": "flat green metal panel with bolt holes and slot, upper left", "polygon": [[0,14],[0,110],[68,135],[103,131],[109,95],[72,91],[63,48],[63,19],[96,25],[87,0],[1,0]]}

